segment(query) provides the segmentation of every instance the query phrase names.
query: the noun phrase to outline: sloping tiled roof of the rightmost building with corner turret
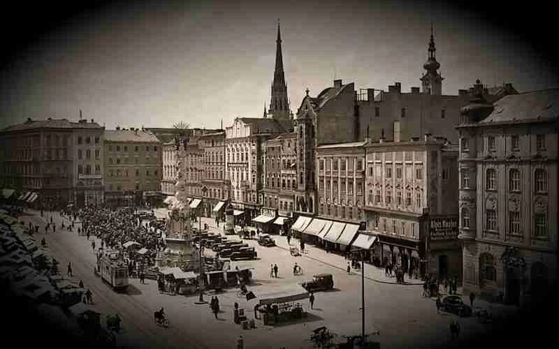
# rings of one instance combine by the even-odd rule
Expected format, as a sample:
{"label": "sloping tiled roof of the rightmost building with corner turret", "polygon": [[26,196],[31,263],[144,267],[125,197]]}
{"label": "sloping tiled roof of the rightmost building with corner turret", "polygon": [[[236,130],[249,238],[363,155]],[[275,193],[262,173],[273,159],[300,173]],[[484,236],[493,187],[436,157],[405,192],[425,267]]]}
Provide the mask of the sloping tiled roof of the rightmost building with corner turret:
{"label": "sloping tiled roof of the rightmost building with corner turret", "polygon": [[559,118],[559,89],[531,91],[504,96],[479,124],[544,121]]}

